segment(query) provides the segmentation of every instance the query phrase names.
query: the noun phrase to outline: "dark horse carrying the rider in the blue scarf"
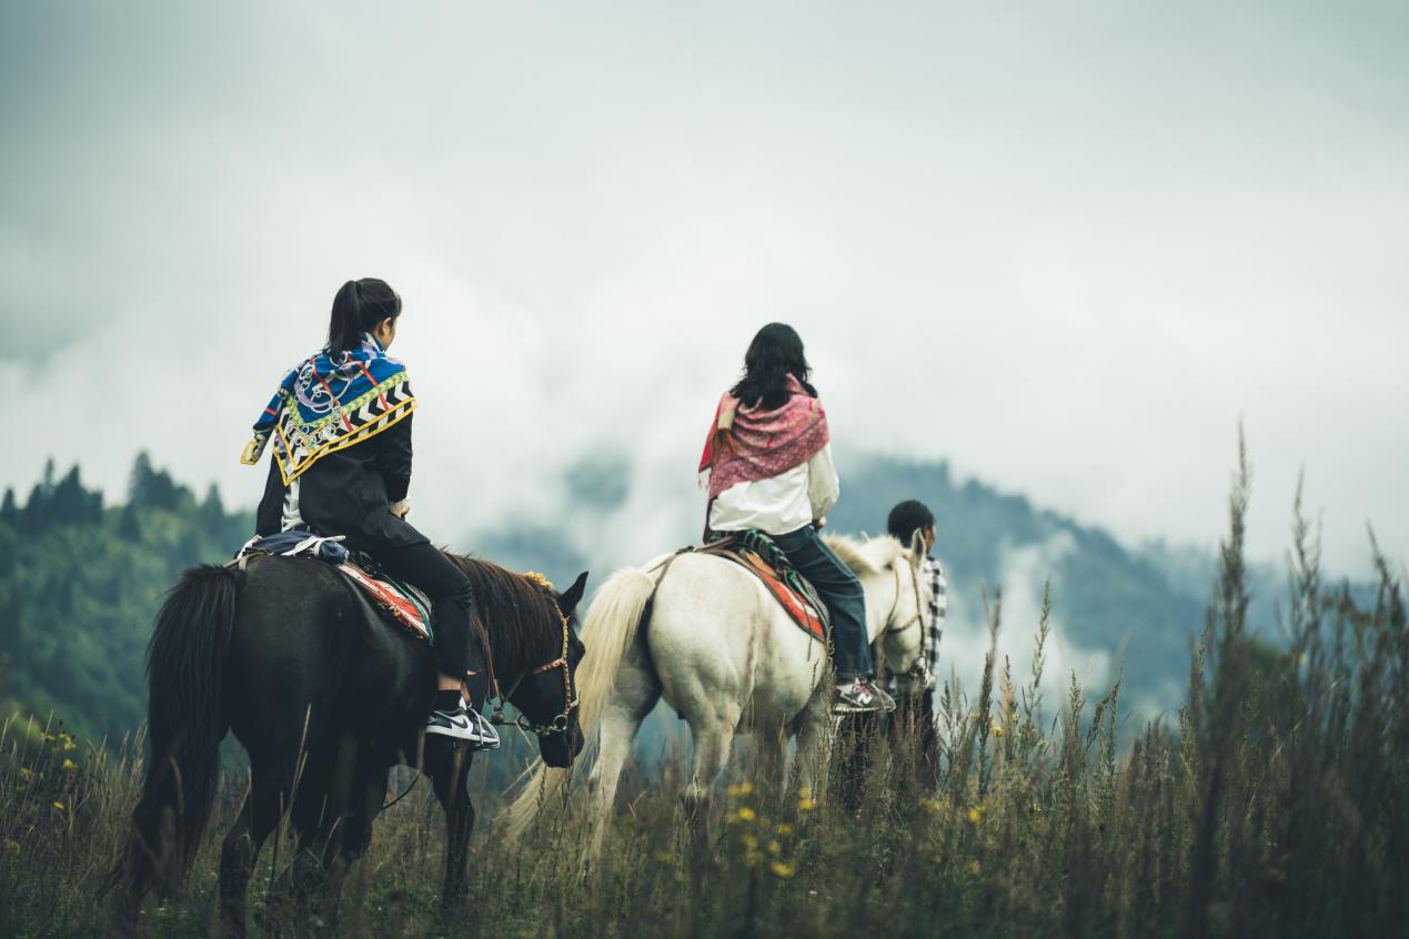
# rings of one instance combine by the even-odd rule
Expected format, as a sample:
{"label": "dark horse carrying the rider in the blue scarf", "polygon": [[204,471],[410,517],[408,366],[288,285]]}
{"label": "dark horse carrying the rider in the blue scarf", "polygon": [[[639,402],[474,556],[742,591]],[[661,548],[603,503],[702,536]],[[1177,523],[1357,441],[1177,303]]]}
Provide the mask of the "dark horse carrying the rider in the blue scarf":
{"label": "dark horse carrying the rider in the blue scarf", "polygon": [[[586,573],[558,594],[496,565],[451,557],[473,583],[495,672],[538,733],[544,763],[571,764],[582,749],[575,608]],[[389,625],[335,569],[302,557],[254,557],[242,572],[192,567],[156,617],[147,670],[147,779],[114,871],[124,924],[135,924],[152,887],[169,894],[190,867],[228,731],[249,753],[251,780],[220,859],[227,933],[244,935],[251,870],[286,814],[297,852],[276,893],[296,901],[283,905],[333,922],[347,866],[366,850],[399,763],[434,783],[447,825],[442,901],[461,902],[475,821],[465,791],[471,753],[420,733],[435,688],[430,646]]]}

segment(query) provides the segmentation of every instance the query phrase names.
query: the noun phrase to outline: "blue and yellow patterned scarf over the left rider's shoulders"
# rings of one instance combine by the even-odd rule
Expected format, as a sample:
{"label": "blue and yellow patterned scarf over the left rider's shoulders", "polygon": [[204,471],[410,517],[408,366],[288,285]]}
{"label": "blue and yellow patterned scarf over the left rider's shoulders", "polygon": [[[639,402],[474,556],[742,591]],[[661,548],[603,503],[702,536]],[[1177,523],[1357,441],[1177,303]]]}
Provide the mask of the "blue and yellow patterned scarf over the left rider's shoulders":
{"label": "blue and yellow patterned scarf over the left rider's shoulders", "polygon": [[323,351],[289,369],[255,421],[254,439],[240,462],[254,466],[273,439],[287,486],[318,458],[376,436],[414,410],[406,366],[364,332],[356,349]]}

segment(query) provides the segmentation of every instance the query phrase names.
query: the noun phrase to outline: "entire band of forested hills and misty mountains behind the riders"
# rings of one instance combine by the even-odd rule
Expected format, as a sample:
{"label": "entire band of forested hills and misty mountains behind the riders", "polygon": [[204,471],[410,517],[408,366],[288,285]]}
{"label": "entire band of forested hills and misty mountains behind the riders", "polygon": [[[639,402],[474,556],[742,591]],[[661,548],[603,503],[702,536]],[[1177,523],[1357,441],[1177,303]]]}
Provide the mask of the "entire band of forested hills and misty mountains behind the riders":
{"label": "entire band of forested hills and misty mountains behind the riders", "polygon": [[[1191,638],[1203,619],[1213,556],[1164,545],[1129,549],[1099,528],[1043,510],[947,463],[838,455],[843,500],[830,529],[879,532],[902,498],[924,500],[938,519],[936,555],[950,574],[951,612],[944,662],[968,687],[988,648],[985,590],[1002,594],[999,646],[1014,677],[1026,674],[1044,583],[1051,586],[1054,636],[1044,687],[1060,694],[1068,673],[1091,684],[1124,676],[1126,700],[1162,710],[1177,700]],[[623,525],[633,486],[623,456],[597,456],[564,473],[571,507],[555,522],[514,522],[469,532],[454,546],[517,570],[568,583],[592,570],[592,586],[614,566],[640,563],[689,541],[606,548],[600,531]],[[693,497],[689,493],[688,497]],[[624,519],[627,522],[633,519]],[[189,487],[141,458],[127,501],[107,504],[79,469],[52,469],[27,498],[0,505],[0,705],[6,715],[54,711],[75,729],[118,735],[145,711],[142,656],[161,594],[180,569],[221,562],[252,528],[248,511],[228,511],[211,487]],[[1271,595],[1277,577],[1260,569]],[[1254,621],[1268,617],[1254,617]]]}

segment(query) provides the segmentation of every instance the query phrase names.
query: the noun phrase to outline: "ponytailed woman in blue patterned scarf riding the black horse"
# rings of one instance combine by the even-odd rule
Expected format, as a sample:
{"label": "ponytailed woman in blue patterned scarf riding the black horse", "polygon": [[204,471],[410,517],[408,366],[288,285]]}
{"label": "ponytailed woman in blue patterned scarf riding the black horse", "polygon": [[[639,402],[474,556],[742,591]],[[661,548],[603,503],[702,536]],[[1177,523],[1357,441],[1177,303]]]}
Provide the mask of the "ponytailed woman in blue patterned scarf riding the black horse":
{"label": "ponytailed woman in blue patterned scarf riding the black horse", "polygon": [[241,458],[258,463],[273,441],[256,531],[342,535],[347,548],[424,590],[434,604],[440,666],[426,732],[496,748],[493,725],[461,694],[466,677],[485,674],[479,638],[471,632],[473,588],[406,521],[416,396],[406,366],[387,355],[400,315],[402,298],[385,280],[348,280],[338,290],[327,346],[289,370]]}

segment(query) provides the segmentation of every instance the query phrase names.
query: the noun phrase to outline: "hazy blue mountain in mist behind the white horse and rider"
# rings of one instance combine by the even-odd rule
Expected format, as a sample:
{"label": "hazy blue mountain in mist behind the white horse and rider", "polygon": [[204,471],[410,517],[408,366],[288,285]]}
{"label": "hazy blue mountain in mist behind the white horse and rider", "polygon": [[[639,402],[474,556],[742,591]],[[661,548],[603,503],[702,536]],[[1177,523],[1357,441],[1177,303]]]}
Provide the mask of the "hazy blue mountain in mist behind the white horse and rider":
{"label": "hazy blue mountain in mist behind the white horse and rider", "polygon": [[[1043,586],[1050,583],[1055,648],[1048,649],[1045,686],[1057,690],[1068,670],[1095,683],[1113,681],[1120,672],[1129,701],[1161,710],[1177,700],[1213,583],[1212,548],[1130,549],[1024,496],[958,480],[945,462],[838,453],[837,463],[843,497],[828,519],[831,532],[883,532],[890,507],[905,498],[920,498],[934,511],[934,553],[950,577],[941,650],[961,679],[982,666],[985,590],[991,603],[1002,591],[999,646],[1014,674],[1026,673]],[[626,458],[606,456],[572,467],[562,483],[568,524],[492,528],[465,541],[500,563],[542,570],[555,581],[592,570],[593,584],[614,566],[689,543],[682,534],[678,543],[650,545],[627,557],[593,546],[597,531],[628,503],[628,466]]]}

